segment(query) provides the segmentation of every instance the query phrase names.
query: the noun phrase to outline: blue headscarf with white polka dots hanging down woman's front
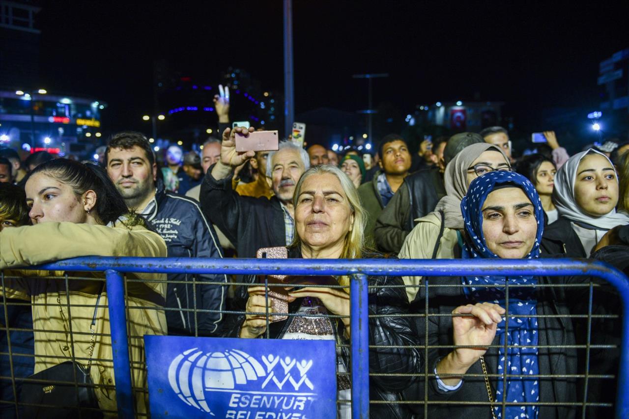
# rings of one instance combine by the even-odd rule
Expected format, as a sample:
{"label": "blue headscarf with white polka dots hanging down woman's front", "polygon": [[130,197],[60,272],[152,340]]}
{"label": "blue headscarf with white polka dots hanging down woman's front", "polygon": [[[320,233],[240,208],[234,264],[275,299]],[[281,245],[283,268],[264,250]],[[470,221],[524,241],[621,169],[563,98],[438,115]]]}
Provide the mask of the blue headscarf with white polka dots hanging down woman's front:
{"label": "blue headscarf with white polka dots hanging down woman's front", "polygon": [[[496,187],[513,185],[520,187],[533,203],[533,212],[537,221],[535,243],[525,259],[536,259],[540,255],[540,242],[543,233],[543,208],[540,198],[533,184],[526,177],[506,171],[494,171],[477,177],[469,186],[467,195],[461,202],[461,211],[465,222],[465,240],[462,251],[463,259],[500,259],[487,248],[482,232],[482,205],[489,193]],[[540,386],[537,378],[526,378],[540,373],[538,366],[538,327],[537,327],[537,297],[535,287],[518,287],[518,285],[537,284],[533,276],[472,276],[462,277],[465,296],[471,301],[482,303],[489,301],[506,308],[506,294],[504,286],[509,284],[509,316],[498,323],[496,335],[500,339],[498,349],[498,374],[511,374],[507,377],[506,387],[503,379],[498,378],[496,384],[496,403],[501,403],[503,397],[509,403],[535,403],[539,401]],[[494,287],[496,286],[496,287]],[[508,333],[505,333],[508,329]],[[504,343],[513,346],[504,350]],[[522,347],[528,345],[529,347]],[[506,371],[505,371],[506,367]],[[534,405],[507,406],[508,418],[537,418],[539,409]],[[496,417],[502,417],[502,408],[494,407]]]}

